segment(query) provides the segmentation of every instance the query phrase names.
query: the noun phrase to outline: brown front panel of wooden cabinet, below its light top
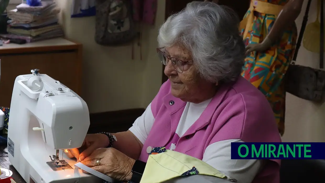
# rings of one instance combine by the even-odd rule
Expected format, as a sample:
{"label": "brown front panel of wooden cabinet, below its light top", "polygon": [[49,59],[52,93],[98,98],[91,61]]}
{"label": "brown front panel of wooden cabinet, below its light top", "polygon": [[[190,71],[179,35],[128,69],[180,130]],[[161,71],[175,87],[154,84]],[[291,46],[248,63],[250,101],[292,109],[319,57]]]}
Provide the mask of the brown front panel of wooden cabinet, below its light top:
{"label": "brown front panel of wooden cabinet, below its light top", "polygon": [[0,56],[0,59],[0,106],[10,107],[16,77],[30,74],[31,69],[40,69],[41,74],[47,74],[76,93],[79,92],[80,63],[76,51],[9,55]]}

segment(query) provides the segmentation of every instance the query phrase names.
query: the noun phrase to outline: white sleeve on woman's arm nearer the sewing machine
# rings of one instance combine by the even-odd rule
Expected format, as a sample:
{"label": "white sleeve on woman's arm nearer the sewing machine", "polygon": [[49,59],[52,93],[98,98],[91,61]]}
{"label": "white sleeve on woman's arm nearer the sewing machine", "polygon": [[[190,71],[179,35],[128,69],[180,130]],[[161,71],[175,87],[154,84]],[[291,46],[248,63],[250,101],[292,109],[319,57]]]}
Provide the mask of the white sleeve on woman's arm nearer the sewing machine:
{"label": "white sleeve on woman's arm nearer the sewing machine", "polygon": [[155,118],[153,117],[150,103],[144,113],[134,121],[129,130],[140,140],[142,144],[144,144],[154,121]]}

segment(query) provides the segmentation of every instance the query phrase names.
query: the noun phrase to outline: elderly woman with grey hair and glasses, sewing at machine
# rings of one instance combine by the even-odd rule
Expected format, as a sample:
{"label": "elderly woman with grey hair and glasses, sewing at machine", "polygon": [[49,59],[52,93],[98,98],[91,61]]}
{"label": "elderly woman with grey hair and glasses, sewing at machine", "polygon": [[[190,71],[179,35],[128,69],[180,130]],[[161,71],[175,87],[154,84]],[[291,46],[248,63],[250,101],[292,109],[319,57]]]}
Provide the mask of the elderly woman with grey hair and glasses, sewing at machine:
{"label": "elderly woman with grey hair and glasses, sewing at machine", "polygon": [[210,2],[191,2],[170,16],[157,49],[168,81],[128,131],[88,134],[86,149],[70,149],[72,155],[129,181],[152,148],[166,147],[241,183],[278,183],[279,161],[230,156],[231,142],[281,141],[265,96],[240,76],[245,45],[238,24],[232,10]]}

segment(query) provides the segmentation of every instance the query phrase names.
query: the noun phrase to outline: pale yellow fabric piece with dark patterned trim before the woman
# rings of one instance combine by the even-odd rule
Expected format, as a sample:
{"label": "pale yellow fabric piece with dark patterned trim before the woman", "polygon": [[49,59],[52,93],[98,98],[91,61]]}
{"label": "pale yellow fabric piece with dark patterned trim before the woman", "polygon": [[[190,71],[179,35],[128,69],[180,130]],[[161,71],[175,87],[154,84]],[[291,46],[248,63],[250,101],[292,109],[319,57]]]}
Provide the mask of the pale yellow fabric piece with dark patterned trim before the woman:
{"label": "pale yellow fabric piece with dark patterned trim before the woman", "polygon": [[181,176],[193,166],[199,171],[199,175],[226,178],[224,174],[197,158],[167,150],[149,155],[140,183],[161,183]]}

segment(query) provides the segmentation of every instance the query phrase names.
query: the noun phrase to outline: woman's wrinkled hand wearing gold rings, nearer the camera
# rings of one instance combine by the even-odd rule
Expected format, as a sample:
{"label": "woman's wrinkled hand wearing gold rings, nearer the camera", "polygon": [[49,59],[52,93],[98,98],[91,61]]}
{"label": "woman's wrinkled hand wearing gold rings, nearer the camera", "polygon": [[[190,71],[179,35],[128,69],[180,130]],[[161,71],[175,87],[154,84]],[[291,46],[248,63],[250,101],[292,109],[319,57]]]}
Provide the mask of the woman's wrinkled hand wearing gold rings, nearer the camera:
{"label": "woman's wrinkled hand wearing gold rings, nearer the camera", "polygon": [[132,177],[135,160],[115,148],[99,148],[81,163],[116,180],[127,182]]}

